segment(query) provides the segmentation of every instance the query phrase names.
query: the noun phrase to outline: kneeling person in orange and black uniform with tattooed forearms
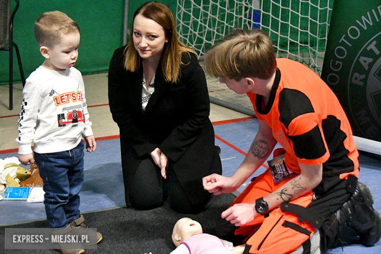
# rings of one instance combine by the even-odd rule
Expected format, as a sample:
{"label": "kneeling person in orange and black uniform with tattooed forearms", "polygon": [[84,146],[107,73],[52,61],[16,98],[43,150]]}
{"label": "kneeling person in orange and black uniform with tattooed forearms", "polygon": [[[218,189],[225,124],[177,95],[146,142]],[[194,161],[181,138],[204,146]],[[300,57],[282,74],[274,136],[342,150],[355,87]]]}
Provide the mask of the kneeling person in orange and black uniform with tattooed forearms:
{"label": "kneeling person in orange and black uniform with tattooed forearms", "polygon": [[234,92],[247,93],[259,122],[234,175],[204,177],[205,190],[237,190],[277,143],[282,146],[274,154],[280,156],[277,167],[291,172],[268,169],[256,177],[222,212],[217,236],[234,245],[246,243],[244,253],[252,254],[325,252],[348,226],[363,245],[377,242],[380,215],[369,202],[369,189],[358,184],[359,153],[351,127],[318,75],[296,61],[276,59],[270,38],[259,29],[236,30],[216,43],[205,67]]}

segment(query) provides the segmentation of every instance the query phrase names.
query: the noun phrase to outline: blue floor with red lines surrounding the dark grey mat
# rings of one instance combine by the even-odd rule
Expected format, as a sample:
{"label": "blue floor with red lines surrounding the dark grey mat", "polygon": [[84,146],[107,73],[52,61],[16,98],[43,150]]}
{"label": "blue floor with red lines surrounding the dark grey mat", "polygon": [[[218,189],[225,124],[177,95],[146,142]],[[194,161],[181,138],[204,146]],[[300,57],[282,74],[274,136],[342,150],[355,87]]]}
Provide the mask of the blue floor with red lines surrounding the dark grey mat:
{"label": "blue floor with red lines surrounding the dark grey mat", "polygon": [[[222,174],[232,176],[240,166],[258,130],[256,119],[238,123],[214,126],[216,145],[221,148]],[[224,142],[220,141],[224,140]],[[229,145],[227,145],[227,143]],[[232,148],[233,147],[233,148]],[[277,145],[275,148],[279,147]],[[234,149],[237,148],[237,149]],[[240,150],[240,151],[239,151]],[[242,152],[243,153],[242,153]],[[0,158],[16,156],[17,153],[0,154]],[[269,159],[271,159],[270,157]],[[360,154],[360,178],[373,194],[374,208],[381,212],[381,161],[367,154]],[[85,153],[85,184],[81,190],[81,212],[94,212],[113,209],[125,205],[124,186],[120,162],[119,139],[97,142],[97,150]],[[265,170],[260,167],[253,176]],[[250,183],[251,177],[244,185]],[[245,187],[238,189],[243,191]],[[27,221],[45,219],[43,203],[25,201],[0,201],[0,225],[12,225]],[[381,241],[373,247],[362,245],[346,246],[330,250],[328,254],[380,254]]]}

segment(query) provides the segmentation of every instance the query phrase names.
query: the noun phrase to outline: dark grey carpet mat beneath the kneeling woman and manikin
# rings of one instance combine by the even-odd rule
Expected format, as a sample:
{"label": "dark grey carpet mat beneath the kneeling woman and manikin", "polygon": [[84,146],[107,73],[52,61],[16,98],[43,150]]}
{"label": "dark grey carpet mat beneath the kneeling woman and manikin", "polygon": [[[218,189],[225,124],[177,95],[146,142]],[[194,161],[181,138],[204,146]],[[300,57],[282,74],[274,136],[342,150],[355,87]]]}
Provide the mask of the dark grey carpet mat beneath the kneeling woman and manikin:
{"label": "dark grey carpet mat beneath the kneeling woman and manikin", "polygon": [[[200,222],[204,233],[213,233],[221,212],[233,202],[235,195],[212,195],[203,212],[181,214],[169,208],[168,200],[162,207],[149,211],[117,208],[85,213],[89,228],[97,228],[103,240],[97,250],[85,250],[85,254],[169,254],[175,249],[171,240],[172,229],[182,217],[191,217]],[[32,212],[32,211],[31,211]],[[5,228],[46,228],[46,220],[0,227],[0,250],[5,254],[53,254],[51,250],[5,250]]]}

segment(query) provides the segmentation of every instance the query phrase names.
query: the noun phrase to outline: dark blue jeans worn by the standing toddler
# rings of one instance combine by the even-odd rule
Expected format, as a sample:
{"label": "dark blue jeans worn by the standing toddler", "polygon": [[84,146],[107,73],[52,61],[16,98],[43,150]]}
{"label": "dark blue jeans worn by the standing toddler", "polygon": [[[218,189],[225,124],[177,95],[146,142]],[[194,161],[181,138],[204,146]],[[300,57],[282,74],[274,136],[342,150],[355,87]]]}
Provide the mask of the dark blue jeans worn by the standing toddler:
{"label": "dark blue jeans worn by the standing toddler", "polygon": [[64,228],[80,217],[80,196],[84,183],[84,142],[62,152],[34,153],[45,191],[49,228]]}

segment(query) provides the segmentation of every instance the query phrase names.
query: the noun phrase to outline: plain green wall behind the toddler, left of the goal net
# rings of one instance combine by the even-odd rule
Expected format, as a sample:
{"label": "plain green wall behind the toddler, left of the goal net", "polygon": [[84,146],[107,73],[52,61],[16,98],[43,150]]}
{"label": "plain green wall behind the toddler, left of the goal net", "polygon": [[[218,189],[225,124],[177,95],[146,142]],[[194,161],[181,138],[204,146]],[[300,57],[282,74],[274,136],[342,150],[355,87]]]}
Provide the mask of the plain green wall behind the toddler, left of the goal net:
{"label": "plain green wall behind the toddler, left of the goal net", "polygon": [[[128,28],[134,11],[147,0],[129,0]],[[159,0],[176,11],[176,0]],[[11,0],[12,8],[15,1]],[[83,74],[106,72],[113,51],[123,44],[124,0],[20,0],[15,15],[13,40],[19,46],[25,78],[43,63],[34,38],[34,22],[47,11],[59,10],[81,28],[79,58],[75,67]],[[13,51],[14,82],[21,81],[16,52]],[[0,84],[9,83],[9,52],[0,51]]]}

